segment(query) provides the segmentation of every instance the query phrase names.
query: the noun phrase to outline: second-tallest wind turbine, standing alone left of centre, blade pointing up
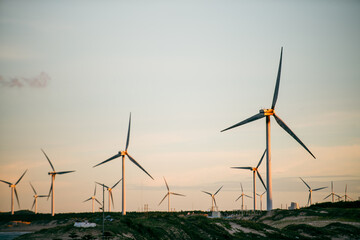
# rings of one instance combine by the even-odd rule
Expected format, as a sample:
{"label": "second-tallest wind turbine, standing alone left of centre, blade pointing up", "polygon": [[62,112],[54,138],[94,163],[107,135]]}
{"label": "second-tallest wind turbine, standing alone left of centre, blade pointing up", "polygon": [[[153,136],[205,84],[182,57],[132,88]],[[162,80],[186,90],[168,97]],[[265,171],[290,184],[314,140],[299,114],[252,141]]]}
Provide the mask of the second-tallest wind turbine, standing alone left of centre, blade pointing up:
{"label": "second-tallest wind turbine, standing alone left of centre, blade pointing up", "polygon": [[136,166],[138,166],[141,170],[143,170],[151,179],[154,180],[154,178],[137,162],[133,157],[130,156],[130,154],[127,152],[127,149],[129,147],[129,139],[130,139],[130,126],[131,126],[131,113],[129,117],[129,128],[128,128],[128,135],[126,139],[126,146],[125,151],[119,151],[115,156],[112,156],[111,158],[95,165],[94,167],[97,167],[101,164],[104,164],[106,162],[109,162],[111,160],[114,160],[115,158],[122,157],[122,215],[126,215],[126,193],[125,193],[125,156],[128,156],[130,161],[132,161]]}

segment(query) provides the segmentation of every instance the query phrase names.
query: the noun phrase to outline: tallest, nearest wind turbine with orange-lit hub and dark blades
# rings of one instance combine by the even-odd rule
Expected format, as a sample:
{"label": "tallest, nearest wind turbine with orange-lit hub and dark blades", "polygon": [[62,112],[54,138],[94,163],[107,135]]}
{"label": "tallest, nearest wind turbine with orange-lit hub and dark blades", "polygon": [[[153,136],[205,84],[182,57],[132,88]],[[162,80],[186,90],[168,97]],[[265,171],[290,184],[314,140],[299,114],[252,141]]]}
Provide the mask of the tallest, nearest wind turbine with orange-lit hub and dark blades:
{"label": "tallest, nearest wind turbine with orange-lit hub and dark blades", "polygon": [[266,186],[267,186],[267,210],[270,211],[273,208],[272,203],[272,179],[271,179],[271,139],[270,139],[270,116],[272,115],[276,122],[282,127],[290,136],[292,136],[301,146],[303,146],[306,151],[308,151],[311,156],[315,158],[315,156],[310,152],[310,150],[305,146],[305,144],[295,135],[295,133],[285,124],[281,118],[275,114],[275,104],[278,98],[279,94],[279,86],[280,86],[280,75],[281,75],[281,63],[282,63],[282,52],[283,48],[281,47],[281,54],[280,54],[280,63],[277,73],[277,79],[276,79],[276,85],[275,85],[275,91],[273,96],[273,102],[270,109],[260,109],[258,114],[255,114],[254,116],[245,119],[244,121],[241,121],[229,128],[226,128],[222,130],[221,132],[224,132],[226,130],[244,125],[246,123],[250,123],[252,121],[258,120],[260,118],[266,117]]}

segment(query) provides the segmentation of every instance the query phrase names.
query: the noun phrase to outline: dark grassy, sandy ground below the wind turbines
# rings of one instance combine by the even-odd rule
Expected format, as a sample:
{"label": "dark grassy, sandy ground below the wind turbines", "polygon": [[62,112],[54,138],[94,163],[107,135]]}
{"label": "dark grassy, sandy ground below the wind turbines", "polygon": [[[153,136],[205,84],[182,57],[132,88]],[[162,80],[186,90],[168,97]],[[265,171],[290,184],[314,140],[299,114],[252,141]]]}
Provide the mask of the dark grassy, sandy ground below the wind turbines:
{"label": "dark grassy, sandy ground below the wind turbines", "polygon": [[[271,212],[105,213],[106,239],[360,239],[360,201],[322,203]],[[0,231],[29,231],[17,239],[101,239],[102,213],[0,213]],[[76,228],[74,222],[96,223]]]}

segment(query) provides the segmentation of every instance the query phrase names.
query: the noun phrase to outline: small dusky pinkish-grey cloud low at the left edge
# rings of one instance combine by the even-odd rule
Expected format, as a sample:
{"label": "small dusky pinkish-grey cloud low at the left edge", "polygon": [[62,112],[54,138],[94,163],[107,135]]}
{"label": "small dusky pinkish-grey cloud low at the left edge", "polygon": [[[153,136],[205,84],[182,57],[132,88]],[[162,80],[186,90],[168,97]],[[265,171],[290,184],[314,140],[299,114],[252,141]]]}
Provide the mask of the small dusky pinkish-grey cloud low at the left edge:
{"label": "small dusky pinkish-grey cloud low at the left edge", "polygon": [[45,73],[41,72],[38,76],[35,77],[3,77],[0,75],[0,87],[6,88],[22,88],[22,87],[30,87],[30,88],[45,88],[51,78]]}

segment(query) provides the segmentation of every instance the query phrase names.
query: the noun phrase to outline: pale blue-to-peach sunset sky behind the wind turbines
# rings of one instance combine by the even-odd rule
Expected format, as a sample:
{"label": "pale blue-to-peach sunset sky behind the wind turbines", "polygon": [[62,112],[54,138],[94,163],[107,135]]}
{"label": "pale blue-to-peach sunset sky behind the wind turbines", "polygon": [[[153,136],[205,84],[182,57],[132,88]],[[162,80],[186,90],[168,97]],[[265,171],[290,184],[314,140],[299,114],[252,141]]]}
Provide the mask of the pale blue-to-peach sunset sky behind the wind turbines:
{"label": "pale blue-to-peach sunset sky behind the wind turbines", "polygon": [[[270,108],[284,48],[276,113],[316,156],[271,122],[274,208],[334,191],[360,197],[360,2],[0,1],[0,179],[16,182],[21,209],[55,180],[56,212],[91,211],[94,182],[113,185],[124,150],[127,211],[239,209],[265,149],[265,120],[220,133]],[[259,170],[266,177],[265,161]],[[257,181],[257,192],[264,189]],[[121,185],[113,190],[121,211]],[[97,188],[97,198],[102,199]],[[265,199],[265,198],[264,198]],[[107,208],[107,196],[105,198]],[[257,199],[259,201],[259,199]],[[246,199],[251,209],[252,199]],[[263,201],[263,208],[266,201]],[[258,207],[259,208],[259,207]],[[15,205],[15,210],[18,210]],[[50,212],[50,200],[38,201]],[[0,211],[10,188],[0,183]]]}

